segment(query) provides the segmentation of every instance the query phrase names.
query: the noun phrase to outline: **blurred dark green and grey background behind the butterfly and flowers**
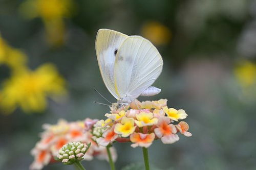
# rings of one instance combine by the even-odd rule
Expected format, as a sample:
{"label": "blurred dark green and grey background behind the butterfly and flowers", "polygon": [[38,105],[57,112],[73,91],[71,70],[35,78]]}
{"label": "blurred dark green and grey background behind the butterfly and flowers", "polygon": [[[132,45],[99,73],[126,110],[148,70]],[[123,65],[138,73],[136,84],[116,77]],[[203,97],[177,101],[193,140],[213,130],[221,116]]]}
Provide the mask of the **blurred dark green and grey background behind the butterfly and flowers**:
{"label": "blurred dark green and grey background behind the butterfly and flowers", "polygon": [[[47,105],[38,110],[16,106],[1,111],[0,169],[28,169],[42,124],[56,124],[59,118],[102,119],[109,112],[108,107],[93,104],[104,102],[93,88],[115,102],[98,69],[94,43],[100,28],[150,39],[164,60],[154,83],[162,92],[139,100],[168,99],[169,107],[188,114],[193,136],[180,136],[170,145],[154,142],[149,149],[152,164],[160,169],[256,168],[255,0],[70,0],[38,6],[32,1],[0,0],[2,39],[27,56],[26,69],[54,64],[66,82],[60,83],[66,94],[47,98]],[[1,98],[5,82],[17,75],[11,59],[3,58],[0,53],[2,105],[7,99]],[[143,161],[140,148],[114,145],[117,169]],[[97,159],[84,165],[108,167]],[[53,164],[44,169],[71,168]]]}

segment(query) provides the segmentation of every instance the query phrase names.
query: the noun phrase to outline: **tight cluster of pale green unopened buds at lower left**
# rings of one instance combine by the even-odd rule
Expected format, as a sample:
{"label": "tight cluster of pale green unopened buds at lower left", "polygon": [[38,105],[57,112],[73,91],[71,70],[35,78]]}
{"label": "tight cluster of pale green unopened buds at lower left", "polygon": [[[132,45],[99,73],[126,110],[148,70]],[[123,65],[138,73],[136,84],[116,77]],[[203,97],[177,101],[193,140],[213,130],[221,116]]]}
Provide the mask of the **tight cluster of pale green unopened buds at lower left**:
{"label": "tight cluster of pale green unopened buds at lower left", "polygon": [[91,143],[88,145],[81,142],[67,143],[59,150],[57,159],[64,164],[73,164],[74,162],[81,161],[90,145]]}

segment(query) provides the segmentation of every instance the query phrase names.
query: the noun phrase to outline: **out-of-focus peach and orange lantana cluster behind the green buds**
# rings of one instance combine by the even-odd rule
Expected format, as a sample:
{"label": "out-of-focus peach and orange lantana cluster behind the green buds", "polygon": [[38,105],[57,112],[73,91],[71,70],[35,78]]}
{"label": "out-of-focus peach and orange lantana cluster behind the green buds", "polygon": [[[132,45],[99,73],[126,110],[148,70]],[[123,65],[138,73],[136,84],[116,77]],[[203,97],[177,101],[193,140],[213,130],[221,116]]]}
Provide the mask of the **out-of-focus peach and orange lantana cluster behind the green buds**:
{"label": "out-of-focus peach and orange lantana cluster behind the green buds", "polygon": [[[100,160],[108,160],[106,148],[98,145],[92,139],[91,127],[98,119],[87,118],[83,121],[67,122],[60,119],[56,125],[43,125],[45,130],[40,134],[40,141],[32,149],[31,154],[34,156],[34,162],[30,169],[41,169],[49,163],[56,162],[59,150],[63,145],[69,142],[90,143],[89,150],[82,156],[83,160],[92,160],[97,157]],[[115,149],[111,148],[113,159],[116,160],[117,154]]]}

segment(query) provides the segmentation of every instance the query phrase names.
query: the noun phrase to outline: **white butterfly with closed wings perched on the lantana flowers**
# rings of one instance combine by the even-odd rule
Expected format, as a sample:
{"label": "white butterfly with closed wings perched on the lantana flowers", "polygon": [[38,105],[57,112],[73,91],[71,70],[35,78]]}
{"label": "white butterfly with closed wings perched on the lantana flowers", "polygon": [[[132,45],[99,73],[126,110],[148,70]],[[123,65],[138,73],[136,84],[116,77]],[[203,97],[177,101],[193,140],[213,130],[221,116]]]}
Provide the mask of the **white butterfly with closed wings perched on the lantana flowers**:
{"label": "white butterfly with closed wings perched on the lantana flowers", "polygon": [[147,39],[100,29],[95,48],[102,79],[119,104],[161,91],[151,85],[162,71],[163,59]]}

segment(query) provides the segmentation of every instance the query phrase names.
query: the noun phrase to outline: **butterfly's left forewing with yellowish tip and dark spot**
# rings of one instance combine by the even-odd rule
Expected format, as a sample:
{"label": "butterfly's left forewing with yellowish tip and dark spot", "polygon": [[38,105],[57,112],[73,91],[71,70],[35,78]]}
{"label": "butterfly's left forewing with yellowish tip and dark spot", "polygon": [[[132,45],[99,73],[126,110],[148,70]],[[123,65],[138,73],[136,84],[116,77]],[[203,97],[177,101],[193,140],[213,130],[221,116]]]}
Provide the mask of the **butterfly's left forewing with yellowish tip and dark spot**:
{"label": "butterfly's left forewing with yellowish tip and dark spot", "polygon": [[117,31],[100,29],[96,36],[95,48],[100,74],[110,93],[119,100],[114,86],[115,57],[122,42],[129,36]]}

